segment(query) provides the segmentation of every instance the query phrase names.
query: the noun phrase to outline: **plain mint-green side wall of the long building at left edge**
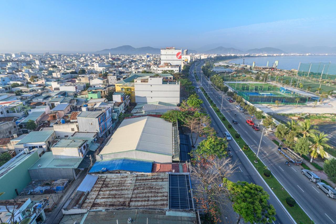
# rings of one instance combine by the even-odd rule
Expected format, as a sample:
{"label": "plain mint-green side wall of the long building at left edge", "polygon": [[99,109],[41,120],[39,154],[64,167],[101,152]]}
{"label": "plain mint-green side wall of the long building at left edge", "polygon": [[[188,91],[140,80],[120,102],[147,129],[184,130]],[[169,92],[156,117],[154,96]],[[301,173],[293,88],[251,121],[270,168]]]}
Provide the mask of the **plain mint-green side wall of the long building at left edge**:
{"label": "plain mint-green side wall of the long building at left edge", "polygon": [[[17,155],[19,156],[19,155]],[[13,167],[9,172],[0,177],[0,191],[5,192],[0,195],[0,200],[7,200],[16,197],[15,189],[18,192],[22,191],[27,184],[32,180],[30,178],[28,169],[37,160],[39,160],[37,150],[21,163]]]}

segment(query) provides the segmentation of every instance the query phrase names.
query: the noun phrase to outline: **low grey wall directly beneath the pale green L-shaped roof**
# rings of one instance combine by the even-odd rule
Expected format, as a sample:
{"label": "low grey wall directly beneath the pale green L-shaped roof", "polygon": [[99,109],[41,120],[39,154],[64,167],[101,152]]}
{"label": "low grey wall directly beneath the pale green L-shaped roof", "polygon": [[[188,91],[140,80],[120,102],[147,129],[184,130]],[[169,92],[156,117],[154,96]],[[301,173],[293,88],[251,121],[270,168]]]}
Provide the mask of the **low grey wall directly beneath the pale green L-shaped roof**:
{"label": "low grey wall directly beneath the pale green L-shaped roof", "polygon": [[75,171],[72,168],[34,169],[29,170],[29,175],[32,180],[75,179]]}

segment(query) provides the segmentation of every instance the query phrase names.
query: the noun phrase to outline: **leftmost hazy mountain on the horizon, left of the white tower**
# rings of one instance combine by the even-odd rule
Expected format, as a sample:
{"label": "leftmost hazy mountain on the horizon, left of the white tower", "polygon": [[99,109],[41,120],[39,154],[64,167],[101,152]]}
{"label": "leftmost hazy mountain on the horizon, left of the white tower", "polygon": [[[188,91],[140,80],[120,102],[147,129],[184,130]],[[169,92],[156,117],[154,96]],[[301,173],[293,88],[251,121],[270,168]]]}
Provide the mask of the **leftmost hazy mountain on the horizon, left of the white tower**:
{"label": "leftmost hazy mountain on the horizon, left of the white tower", "polygon": [[130,45],[123,45],[120,47],[115,47],[111,49],[103,49],[96,51],[96,53],[100,54],[160,54],[160,48],[154,48],[154,47],[132,47]]}

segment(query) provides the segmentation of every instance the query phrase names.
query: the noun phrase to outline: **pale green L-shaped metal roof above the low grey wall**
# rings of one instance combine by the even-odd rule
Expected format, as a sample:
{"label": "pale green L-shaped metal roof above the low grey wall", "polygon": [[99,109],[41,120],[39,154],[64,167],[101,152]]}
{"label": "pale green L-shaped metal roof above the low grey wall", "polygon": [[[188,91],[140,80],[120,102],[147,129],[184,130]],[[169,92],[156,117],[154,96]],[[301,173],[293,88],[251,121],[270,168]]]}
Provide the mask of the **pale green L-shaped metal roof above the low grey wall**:
{"label": "pale green L-shaped metal roof above the low grey wall", "polygon": [[83,158],[55,159],[52,152],[45,152],[41,156],[41,158],[37,160],[28,170],[35,170],[35,169],[42,169],[42,168],[76,169],[82,160]]}

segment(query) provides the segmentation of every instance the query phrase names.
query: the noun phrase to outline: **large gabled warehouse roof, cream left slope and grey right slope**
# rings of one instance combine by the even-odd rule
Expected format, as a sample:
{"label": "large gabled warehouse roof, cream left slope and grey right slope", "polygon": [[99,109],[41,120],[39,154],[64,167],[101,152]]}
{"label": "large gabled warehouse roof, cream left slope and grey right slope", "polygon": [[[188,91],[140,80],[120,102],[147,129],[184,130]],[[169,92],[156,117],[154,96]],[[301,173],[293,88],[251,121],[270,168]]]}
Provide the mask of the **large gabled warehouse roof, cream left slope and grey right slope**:
{"label": "large gabled warehouse roof, cream left slope and grey right slope", "polygon": [[125,119],[100,154],[129,150],[172,155],[172,123],[152,116]]}

